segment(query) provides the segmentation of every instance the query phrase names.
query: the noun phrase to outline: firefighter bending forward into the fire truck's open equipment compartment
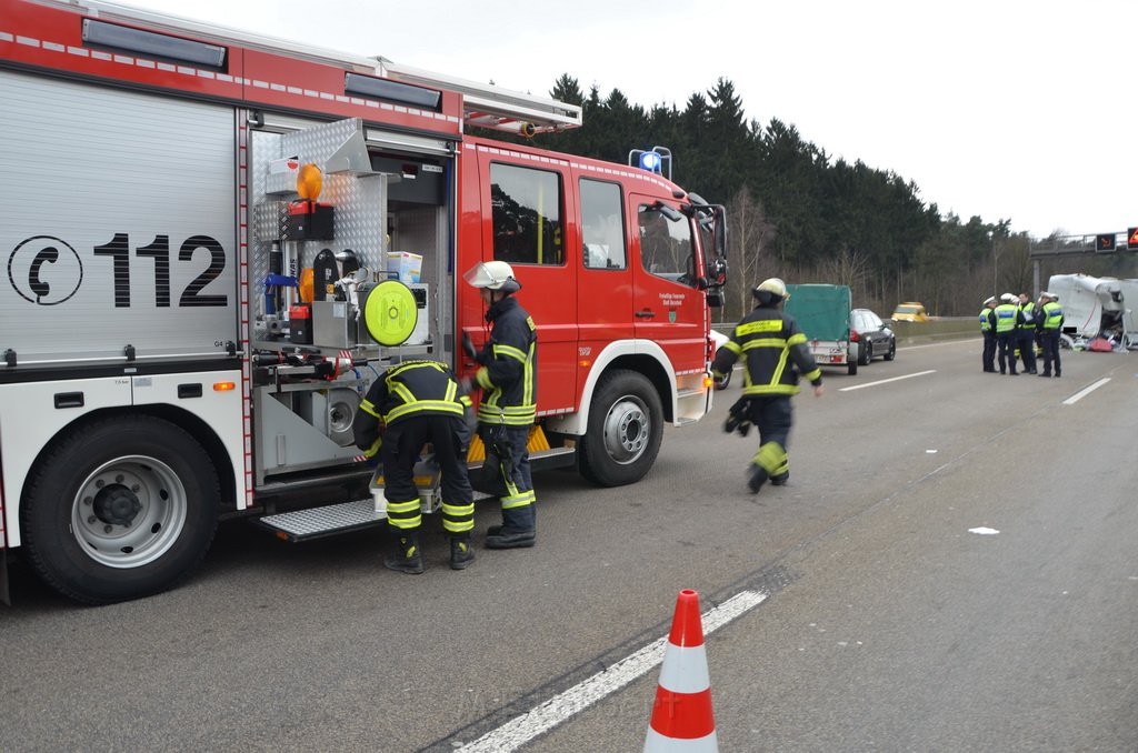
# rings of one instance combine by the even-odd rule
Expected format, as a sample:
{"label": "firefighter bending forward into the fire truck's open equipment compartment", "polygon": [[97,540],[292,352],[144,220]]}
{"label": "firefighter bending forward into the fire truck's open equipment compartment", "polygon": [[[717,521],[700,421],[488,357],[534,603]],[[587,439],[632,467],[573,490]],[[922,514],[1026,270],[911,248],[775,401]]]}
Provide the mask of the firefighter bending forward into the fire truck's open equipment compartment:
{"label": "firefighter bending forward into the fire truck's open equipment compartment", "polygon": [[371,386],[352,430],[356,446],[384,464],[387,524],[398,539],[384,564],[412,574],[423,571],[419,551],[422,523],[414,467],[427,442],[443,472],[443,529],[451,539],[451,569],[464,570],[475,558],[470,532],[475,503],[467,477],[470,398],[460,394],[451,370],[435,361],[405,361],[384,372]]}

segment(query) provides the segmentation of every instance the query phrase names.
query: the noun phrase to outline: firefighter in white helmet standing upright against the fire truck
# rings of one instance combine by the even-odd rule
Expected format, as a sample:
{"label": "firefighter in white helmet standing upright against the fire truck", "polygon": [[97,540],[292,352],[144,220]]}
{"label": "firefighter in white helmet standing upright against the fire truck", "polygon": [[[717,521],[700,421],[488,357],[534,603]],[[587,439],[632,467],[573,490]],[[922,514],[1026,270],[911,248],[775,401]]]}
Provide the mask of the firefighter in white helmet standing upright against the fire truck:
{"label": "firefighter in white helmet standing upright against the fire truck", "polygon": [[537,326],[513,293],[521,283],[505,262],[479,262],[463,275],[486,304],[489,339],[476,351],[463,334],[463,349],[478,363],[475,380],[483,389],[478,436],[486,447],[475,487],[496,496],[502,524],[490,526],[486,546],[534,546],[537,497],[529,473],[529,431],[537,416]]}

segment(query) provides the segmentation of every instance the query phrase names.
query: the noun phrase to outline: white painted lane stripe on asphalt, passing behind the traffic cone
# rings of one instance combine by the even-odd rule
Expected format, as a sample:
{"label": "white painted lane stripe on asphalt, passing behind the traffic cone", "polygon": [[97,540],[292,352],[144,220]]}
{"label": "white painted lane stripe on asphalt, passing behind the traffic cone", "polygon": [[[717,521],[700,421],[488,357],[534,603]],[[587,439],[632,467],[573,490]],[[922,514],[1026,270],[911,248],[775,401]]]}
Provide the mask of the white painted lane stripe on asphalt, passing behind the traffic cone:
{"label": "white painted lane stripe on asphalt, passing behind the traffic cone", "polygon": [[[754,609],[767,598],[766,594],[744,590],[703,613],[703,635],[718,630],[732,620]],[[619,690],[663,662],[668,637],[665,636],[625,656],[612,667],[583,680],[545,703],[514,717],[497,729],[492,729],[475,742],[456,748],[459,753],[509,753],[516,751],[542,733],[553,729],[574,714],[580,713],[604,696]],[[645,728],[648,720],[644,720]]]}

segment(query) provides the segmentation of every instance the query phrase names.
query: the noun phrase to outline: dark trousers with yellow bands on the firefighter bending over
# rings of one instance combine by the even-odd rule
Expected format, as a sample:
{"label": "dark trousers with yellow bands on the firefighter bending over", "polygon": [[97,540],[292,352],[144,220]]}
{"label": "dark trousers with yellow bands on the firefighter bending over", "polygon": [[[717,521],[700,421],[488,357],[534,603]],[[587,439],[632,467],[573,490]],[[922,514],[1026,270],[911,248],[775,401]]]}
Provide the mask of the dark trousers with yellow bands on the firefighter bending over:
{"label": "dark trousers with yellow bands on the firefighter bending over", "polygon": [[397,536],[407,536],[422,524],[415,463],[427,442],[443,472],[443,529],[453,539],[467,540],[475,528],[473,493],[467,475],[469,429],[457,416],[412,416],[387,427],[380,458],[384,462],[384,497],[387,524]]}

